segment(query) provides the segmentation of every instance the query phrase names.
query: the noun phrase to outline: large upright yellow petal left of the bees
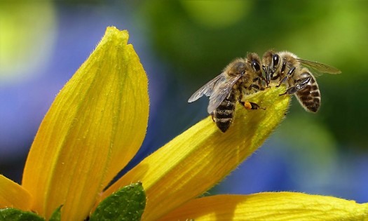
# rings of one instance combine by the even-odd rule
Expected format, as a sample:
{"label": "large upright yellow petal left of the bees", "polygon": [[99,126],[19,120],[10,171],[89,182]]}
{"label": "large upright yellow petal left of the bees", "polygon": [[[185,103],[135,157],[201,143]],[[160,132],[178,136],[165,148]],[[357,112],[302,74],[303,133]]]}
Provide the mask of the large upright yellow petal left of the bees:
{"label": "large upright yellow petal left of the bees", "polygon": [[128,32],[107,28],[102,41],[62,88],[43,119],[22,184],[33,210],[83,220],[97,194],[135,155],[146,132],[144,69]]}

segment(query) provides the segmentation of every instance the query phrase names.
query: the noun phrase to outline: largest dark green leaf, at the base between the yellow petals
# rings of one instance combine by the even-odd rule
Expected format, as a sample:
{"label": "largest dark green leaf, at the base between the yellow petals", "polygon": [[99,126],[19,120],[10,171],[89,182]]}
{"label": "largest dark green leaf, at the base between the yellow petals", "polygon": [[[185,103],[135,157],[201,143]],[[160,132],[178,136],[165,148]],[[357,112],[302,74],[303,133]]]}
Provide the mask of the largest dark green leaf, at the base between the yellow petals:
{"label": "largest dark green leaf, at the base between the yellow petals", "polygon": [[146,194],[141,182],[119,189],[104,199],[96,208],[90,221],[140,220],[146,206]]}

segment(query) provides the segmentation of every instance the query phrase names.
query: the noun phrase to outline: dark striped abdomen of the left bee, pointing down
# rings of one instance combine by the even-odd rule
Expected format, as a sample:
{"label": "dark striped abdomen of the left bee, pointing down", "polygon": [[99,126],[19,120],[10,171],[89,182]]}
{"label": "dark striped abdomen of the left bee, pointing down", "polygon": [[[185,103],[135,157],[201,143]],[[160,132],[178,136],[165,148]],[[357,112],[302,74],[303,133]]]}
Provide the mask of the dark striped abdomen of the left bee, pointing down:
{"label": "dark striped abdomen of the left bee, pointing down", "polygon": [[227,98],[225,98],[217,109],[214,109],[213,120],[217,127],[225,132],[233,123],[234,112],[236,105],[236,95],[232,91]]}

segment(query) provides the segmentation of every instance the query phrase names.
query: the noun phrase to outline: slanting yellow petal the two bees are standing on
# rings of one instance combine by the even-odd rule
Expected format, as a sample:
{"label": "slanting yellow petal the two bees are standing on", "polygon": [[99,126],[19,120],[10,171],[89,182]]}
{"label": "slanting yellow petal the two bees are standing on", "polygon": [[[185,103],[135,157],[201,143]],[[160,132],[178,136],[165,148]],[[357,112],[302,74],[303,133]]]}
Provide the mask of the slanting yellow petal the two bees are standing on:
{"label": "slanting yellow petal the two bees are standing on", "polygon": [[147,202],[142,220],[156,220],[203,194],[250,156],[284,118],[289,96],[284,87],[266,89],[252,97],[266,110],[236,108],[233,125],[222,133],[210,116],[148,156],[104,192],[142,182]]}

